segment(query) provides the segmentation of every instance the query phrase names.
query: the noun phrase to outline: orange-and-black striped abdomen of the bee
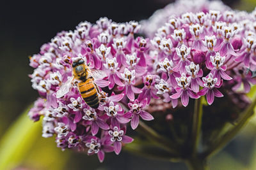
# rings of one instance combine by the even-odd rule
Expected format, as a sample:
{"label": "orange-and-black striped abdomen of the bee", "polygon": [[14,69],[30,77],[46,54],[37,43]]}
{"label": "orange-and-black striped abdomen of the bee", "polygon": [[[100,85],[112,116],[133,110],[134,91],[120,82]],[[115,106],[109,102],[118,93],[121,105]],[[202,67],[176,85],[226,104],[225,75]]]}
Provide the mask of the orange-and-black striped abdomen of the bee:
{"label": "orange-and-black striped abdomen of the bee", "polygon": [[88,78],[86,81],[78,83],[78,88],[88,106],[91,108],[99,107],[99,96],[92,78]]}

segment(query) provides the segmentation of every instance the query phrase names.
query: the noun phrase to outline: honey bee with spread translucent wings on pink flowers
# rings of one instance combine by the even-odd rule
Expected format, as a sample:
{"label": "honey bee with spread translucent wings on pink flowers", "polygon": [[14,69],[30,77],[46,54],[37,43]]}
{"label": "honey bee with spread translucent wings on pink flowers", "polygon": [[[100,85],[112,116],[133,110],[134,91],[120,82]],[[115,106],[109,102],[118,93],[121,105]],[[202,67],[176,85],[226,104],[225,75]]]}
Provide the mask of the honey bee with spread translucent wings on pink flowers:
{"label": "honey bee with spread translucent wings on pink flowers", "polygon": [[89,64],[86,64],[86,60],[81,57],[73,59],[72,63],[72,76],[61,85],[60,89],[56,93],[56,97],[60,98],[67,94],[74,85],[74,80],[79,93],[83,97],[84,101],[91,108],[98,108],[100,102],[100,92],[95,80],[100,80],[107,76],[102,70],[90,69]]}

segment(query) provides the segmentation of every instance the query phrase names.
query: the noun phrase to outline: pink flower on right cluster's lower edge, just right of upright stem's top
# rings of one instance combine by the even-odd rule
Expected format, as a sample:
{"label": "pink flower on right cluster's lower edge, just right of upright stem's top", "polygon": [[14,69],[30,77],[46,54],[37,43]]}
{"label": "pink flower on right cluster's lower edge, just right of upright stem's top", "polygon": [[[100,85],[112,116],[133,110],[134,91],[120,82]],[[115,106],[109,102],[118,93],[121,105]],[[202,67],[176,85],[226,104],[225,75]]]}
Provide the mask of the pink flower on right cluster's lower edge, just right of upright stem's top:
{"label": "pink flower on right cluster's lower edge, just right of upright stem's top", "polygon": [[222,81],[220,81],[220,84],[217,85],[218,78],[213,78],[212,73],[209,73],[208,76],[203,77],[204,81],[204,89],[200,90],[198,92],[198,95],[200,96],[205,96],[207,99],[207,103],[211,105],[214,101],[214,96],[215,97],[223,97],[223,94],[216,89],[220,88],[222,85]]}

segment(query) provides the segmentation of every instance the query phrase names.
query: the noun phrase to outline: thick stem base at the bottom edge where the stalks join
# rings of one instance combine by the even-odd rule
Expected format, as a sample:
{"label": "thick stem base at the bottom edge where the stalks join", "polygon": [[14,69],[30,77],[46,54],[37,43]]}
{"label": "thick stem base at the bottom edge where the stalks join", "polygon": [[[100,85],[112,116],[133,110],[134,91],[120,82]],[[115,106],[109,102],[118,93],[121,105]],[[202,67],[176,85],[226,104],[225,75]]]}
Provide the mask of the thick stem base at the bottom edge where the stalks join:
{"label": "thick stem base at the bottom edge where the stalks join", "polygon": [[205,159],[201,159],[199,157],[192,157],[191,159],[186,160],[185,162],[186,162],[186,165],[191,170],[206,170],[206,169],[208,169],[206,166]]}

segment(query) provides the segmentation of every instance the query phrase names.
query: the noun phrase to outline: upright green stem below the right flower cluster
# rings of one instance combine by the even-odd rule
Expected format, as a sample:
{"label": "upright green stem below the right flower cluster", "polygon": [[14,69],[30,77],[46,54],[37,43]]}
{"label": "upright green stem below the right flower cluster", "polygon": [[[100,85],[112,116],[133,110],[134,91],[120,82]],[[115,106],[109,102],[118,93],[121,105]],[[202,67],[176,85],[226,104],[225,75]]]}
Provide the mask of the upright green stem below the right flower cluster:
{"label": "upright green stem below the right flower cluster", "polygon": [[193,124],[192,124],[192,154],[196,155],[200,139],[200,130],[202,125],[203,104],[201,99],[195,99]]}

